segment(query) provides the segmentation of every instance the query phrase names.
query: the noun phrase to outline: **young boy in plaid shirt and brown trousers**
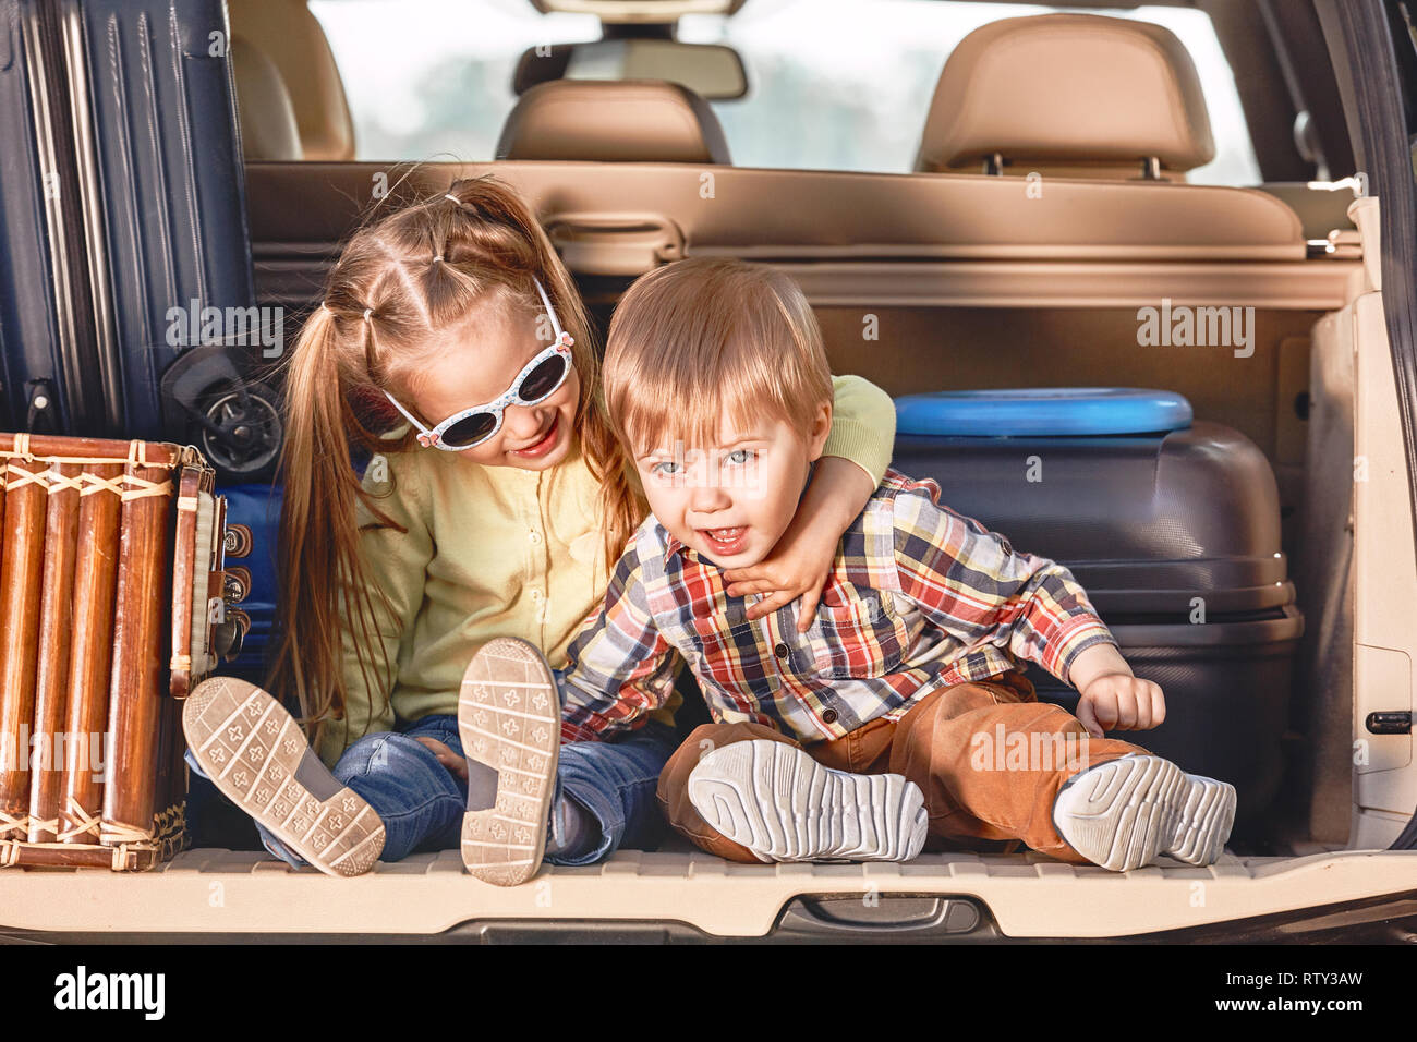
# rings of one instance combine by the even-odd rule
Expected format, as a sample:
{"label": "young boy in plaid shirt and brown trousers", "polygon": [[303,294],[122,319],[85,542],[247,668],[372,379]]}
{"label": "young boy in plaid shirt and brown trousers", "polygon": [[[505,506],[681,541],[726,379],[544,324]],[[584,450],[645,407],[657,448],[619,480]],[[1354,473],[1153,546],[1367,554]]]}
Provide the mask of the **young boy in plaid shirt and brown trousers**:
{"label": "young boy in plaid shirt and brown trousers", "polygon": [[[830,427],[791,279],[726,259],[646,275],[615,312],[604,381],[653,516],[570,646],[563,740],[643,724],[679,652],[713,723],[660,774],[673,828],[744,862],[905,861],[927,834],[1115,870],[1220,856],[1234,788],[1102,737],[1161,723],[1161,689],[1067,568],[942,506],[934,482],[887,472],[813,618],[754,618],[727,593],[724,570],[786,529]],[[1039,703],[1017,659],[1077,688],[1078,716]]]}

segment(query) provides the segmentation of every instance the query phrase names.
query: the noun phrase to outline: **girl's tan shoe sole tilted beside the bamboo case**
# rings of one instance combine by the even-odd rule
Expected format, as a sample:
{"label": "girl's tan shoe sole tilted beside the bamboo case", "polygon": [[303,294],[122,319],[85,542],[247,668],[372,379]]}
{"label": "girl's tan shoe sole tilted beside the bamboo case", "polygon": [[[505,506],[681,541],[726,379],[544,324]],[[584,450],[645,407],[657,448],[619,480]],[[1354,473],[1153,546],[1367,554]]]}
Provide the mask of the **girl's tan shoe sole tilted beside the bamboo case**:
{"label": "girl's tan shoe sole tilted beside the bamboo case", "polygon": [[320,872],[357,876],[378,861],[384,822],[319,763],[300,724],[266,692],[225,676],[203,680],[181,723],[213,784]]}

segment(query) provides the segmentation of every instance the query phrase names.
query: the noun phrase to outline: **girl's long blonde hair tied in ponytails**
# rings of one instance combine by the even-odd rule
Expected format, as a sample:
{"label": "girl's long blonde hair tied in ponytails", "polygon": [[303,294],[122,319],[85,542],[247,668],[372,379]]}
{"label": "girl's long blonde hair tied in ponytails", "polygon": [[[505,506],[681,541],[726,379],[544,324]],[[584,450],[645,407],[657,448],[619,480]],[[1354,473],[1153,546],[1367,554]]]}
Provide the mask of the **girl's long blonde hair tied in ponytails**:
{"label": "girl's long blonde hair tied in ponytails", "polygon": [[313,740],[322,722],[344,709],[346,641],[354,645],[367,690],[377,689],[373,648],[378,666],[390,666],[373,612],[373,598],[383,593],[367,581],[357,505],[363,502],[376,523],[404,529],[363,488],[351,454],[438,451],[419,448],[412,430],[397,439],[380,437],[404,424],[381,391],[407,407],[419,369],[439,350],[436,335],[465,325],[479,308],[510,308],[530,320],[543,310],[533,279],[575,337],[575,432],[601,482],[608,563],[643,516],[605,417],[585,306],[521,197],[493,177],[478,177],[360,228],[286,363],[282,590],[268,686],[295,693]]}

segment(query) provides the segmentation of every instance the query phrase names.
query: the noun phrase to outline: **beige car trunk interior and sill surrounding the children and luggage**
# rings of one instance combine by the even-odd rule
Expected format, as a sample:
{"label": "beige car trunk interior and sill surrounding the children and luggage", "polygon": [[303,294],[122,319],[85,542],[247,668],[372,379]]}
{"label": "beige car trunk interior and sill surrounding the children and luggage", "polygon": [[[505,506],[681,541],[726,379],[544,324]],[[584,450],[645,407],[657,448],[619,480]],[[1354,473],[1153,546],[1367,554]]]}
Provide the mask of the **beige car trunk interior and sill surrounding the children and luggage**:
{"label": "beige car trunk interior and sill surrounding the children and luggage", "polygon": [[[248,166],[259,303],[316,303],[334,244],[381,172]],[[708,208],[697,196],[699,172],[666,164],[428,164],[402,184],[425,191],[485,172],[534,200],[602,322],[652,264],[741,255],[798,279],[835,371],[859,373],[891,394],[1162,387],[1190,398],[1197,420],[1254,442],[1278,482],[1282,549],[1306,620],[1280,736],[1282,795],[1267,827],[1213,866],[1162,861],[1122,875],[1033,853],[750,866],[672,839],[602,865],[543,869],[512,889],[468,878],[456,851],[334,880],[264,853],[198,848],[132,876],[9,872],[0,879],[6,933],[461,939],[554,927],[662,939],[1141,937],[1411,887],[1417,853],[1380,849],[1417,802],[1410,734],[1365,734],[1365,763],[1349,767],[1350,722],[1411,707],[1396,658],[1411,638],[1384,620],[1406,620],[1417,601],[1411,554],[1394,570],[1380,553],[1394,540],[1413,544],[1410,475],[1379,278],[1359,233],[1312,250],[1294,214],[1268,196],[1175,184],[1051,181],[1049,203],[1027,220],[1007,194],[1022,191],[1017,184],[948,174],[723,169],[714,172],[720,197],[741,203]],[[775,207],[788,190],[801,206]],[[1372,234],[1376,201],[1357,203],[1355,214]],[[1253,308],[1248,353],[1141,344],[1138,309],[1163,299]],[[1365,461],[1357,483],[1355,456]],[[1356,699],[1355,671],[1369,679]]]}

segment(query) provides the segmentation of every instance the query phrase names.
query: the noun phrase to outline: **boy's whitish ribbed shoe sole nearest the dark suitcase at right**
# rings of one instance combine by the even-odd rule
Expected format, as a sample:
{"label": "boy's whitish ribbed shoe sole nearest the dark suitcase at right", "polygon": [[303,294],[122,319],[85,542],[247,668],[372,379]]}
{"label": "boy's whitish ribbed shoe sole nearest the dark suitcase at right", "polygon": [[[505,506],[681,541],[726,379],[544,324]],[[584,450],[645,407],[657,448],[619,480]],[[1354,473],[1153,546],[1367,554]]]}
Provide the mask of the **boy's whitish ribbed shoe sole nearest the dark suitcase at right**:
{"label": "boy's whitish ribbed shoe sole nearest the dark suitcase at right", "polygon": [[1213,865],[1236,818],[1234,785],[1186,774],[1159,756],[1125,756],[1073,775],[1053,802],[1068,846],[1114,872],[1166,855]]}

